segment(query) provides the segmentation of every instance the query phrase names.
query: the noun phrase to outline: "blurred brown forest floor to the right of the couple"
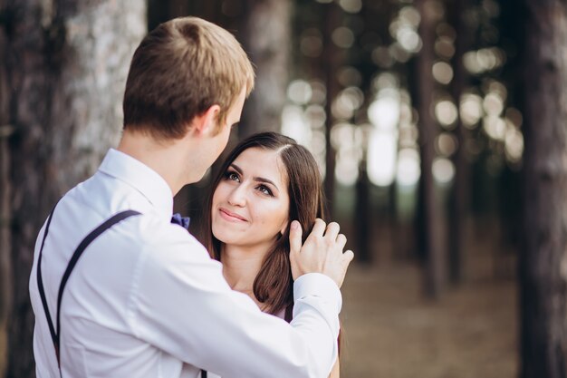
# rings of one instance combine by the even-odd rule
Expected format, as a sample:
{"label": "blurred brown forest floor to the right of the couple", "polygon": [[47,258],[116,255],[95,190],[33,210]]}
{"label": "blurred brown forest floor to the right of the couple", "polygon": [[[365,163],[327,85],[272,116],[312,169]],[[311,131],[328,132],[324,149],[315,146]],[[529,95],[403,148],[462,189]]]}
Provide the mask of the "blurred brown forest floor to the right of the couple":
{"label": "blurred brown forest floor to the right of the couple", "polygon": [[437,301],[408,259],[353,263],[342,286],[341,377],[515,378],[514,256],[495,255],[490,243],[469,244],[464,282],[446,285]]}

